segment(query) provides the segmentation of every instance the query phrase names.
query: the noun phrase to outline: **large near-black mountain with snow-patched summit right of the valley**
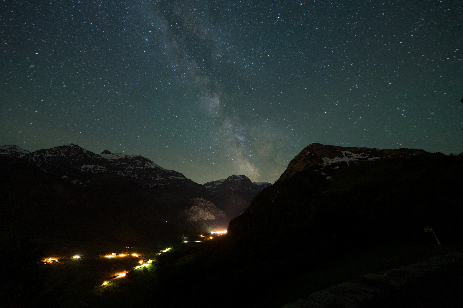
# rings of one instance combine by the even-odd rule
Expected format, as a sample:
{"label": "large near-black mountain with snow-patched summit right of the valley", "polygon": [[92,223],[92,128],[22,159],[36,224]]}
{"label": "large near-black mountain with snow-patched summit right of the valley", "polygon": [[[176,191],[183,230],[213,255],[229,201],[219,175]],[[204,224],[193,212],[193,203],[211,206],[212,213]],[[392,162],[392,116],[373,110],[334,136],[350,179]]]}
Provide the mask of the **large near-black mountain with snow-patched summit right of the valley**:
{"label": "large near-black mountain with snow-patched summit right of the valley", "polygon": [[[461,241],[462,181],[463,153],[308,145],[230,221],[230,260],[311,264],[352,249],[436,244],[423,226],[441,243]],[[291,254],[274,253],[281,243]]]}

